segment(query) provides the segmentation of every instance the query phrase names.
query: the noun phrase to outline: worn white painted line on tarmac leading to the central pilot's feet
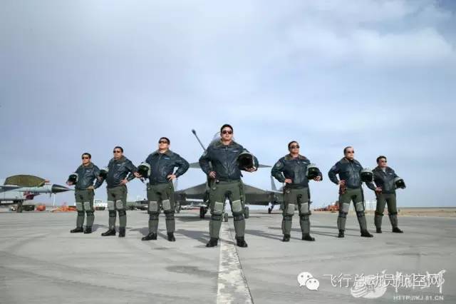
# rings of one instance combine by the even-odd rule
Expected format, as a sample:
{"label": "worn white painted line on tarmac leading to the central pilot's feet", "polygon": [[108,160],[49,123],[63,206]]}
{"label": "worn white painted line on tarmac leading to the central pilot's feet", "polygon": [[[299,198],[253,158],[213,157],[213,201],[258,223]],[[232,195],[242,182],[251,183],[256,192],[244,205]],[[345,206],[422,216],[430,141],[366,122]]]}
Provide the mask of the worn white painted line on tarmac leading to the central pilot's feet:
{"label": "worn white painted line on tarmac leading to the central pilot's feet", "polygon": [[253,303],[227,223],[222,223],[220,240],[217,303]]}

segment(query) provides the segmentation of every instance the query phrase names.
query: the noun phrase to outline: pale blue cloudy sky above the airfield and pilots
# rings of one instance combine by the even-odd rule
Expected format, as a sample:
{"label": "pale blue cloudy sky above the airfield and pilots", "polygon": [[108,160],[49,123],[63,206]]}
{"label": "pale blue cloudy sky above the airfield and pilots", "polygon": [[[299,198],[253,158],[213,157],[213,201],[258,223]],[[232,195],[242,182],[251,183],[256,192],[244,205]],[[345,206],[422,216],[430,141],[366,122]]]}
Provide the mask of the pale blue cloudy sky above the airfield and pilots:
{"label": "pale blue cloudy sky above the airfield and pilots", "polygon": [[[399,206],[456,205],[453,1],[1,6],[2,178],[31,173],[63,184],[84,151],[101,167],[120,145],[138,164],[160,136],[193,162],[202,149],[191,129],[209,143],[231,123],[261,163],[299,141],[325,173],[311,185],[316,206],[337,198],[326,172],[348,145],[363,166],[388,156],[408,184]],[[270,188],[269,173],[244,181]],[[179,187],[202,181],[191,169]],[[131,182],[129,195],[145,196],[145,186]]]}

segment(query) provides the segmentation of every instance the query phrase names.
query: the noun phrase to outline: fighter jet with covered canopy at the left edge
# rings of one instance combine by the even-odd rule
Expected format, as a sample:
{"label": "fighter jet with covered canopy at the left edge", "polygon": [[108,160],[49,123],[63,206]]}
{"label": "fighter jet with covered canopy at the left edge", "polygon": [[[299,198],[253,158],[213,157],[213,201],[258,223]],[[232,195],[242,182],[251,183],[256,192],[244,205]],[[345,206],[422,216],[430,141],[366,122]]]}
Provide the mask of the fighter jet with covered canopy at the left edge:
{"label": "fighter jet with covered canopy at the left edge", "polygon": [[70,190],[65,186],[50,184],[49,181],[38,176],[24,174],[9,176],[4,185],[0,185],[0,205],[17,205],[16,212],[21,213],[26,200],[33,200],[41,193],[53,194]]}

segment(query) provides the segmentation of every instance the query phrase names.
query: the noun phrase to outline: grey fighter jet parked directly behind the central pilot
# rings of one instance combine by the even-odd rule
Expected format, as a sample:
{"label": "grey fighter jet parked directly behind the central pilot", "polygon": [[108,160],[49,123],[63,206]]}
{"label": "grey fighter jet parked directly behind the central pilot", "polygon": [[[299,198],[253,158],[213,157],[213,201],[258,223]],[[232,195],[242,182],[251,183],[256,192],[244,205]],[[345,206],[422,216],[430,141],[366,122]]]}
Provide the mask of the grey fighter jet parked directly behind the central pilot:
{"label": "grey fighter jet parked directly behind the central pilot", "polygon": [[[199,140],[195,130],[192,130],[192,133],[197,138],[199,145],[202,146],[203,150],[204,145]],[[219,140],[219,133],[216,133],[214,140]],[[271,166],[259,164],[259,168],[270,168]],[[190,163],[190,168],[200,168],[199,163]],[[200,183],[197,186],[190,188],[182,189],[180,191],[175,191],[175,201],[178,206],[199,206],[199,218],[204,218],[209,209],[209,183],[207,180],[206,183]],[[244,184],[244,194],[246,197],[246,204],[249,205],[260,205],[260,206],[270,206],[268,212],[271,213],[275,205],[280,205],[284,201],[284,195],[282,191],[276,190],[274,181],[271,178],[271,190],[263,190],[254,186]],[[196,201],[198,200],[198,201]],[[244,211],[245,218],[249,218],[249,207],[246,206]],[[228,213],[224,213],[224,221],[228,221]]]}

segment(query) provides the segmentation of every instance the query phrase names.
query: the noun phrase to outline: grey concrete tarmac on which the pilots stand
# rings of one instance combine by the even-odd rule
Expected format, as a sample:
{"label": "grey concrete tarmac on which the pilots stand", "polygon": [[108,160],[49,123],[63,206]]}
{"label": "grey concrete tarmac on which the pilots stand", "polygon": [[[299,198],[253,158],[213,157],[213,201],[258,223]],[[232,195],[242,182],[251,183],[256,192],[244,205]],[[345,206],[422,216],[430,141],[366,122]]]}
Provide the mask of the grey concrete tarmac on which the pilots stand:
{"label": "grey concrete tarmac on which the pilots stand", "polygon": [[[231,217],[219,246],[206,248],[209,216],[200,220],[197,211],[176,214],[175,243],[163,215],[158,239],[141,241],[144,211],[128,211],[125,238],[100,236],[107,211],[95,212],[91,234],[69,233],[76,212],[0,213],[0,303],[456,303],[456,218],[400,217],[405,233],[398,234],[385,216],[377,234],[368,216],[374,237],[361,238],[349,215],[339,239],[336,217],[312,215],[316,241],[308,242],[296,213],[291,241],[282,243],[279,211],[251,211],[248,248],[234,245]],[[375,285],[354,285],[382,271],[390,283],[383,295]],[[318,290],[315,280],[311,289],[300,286],[302,272]]]}

